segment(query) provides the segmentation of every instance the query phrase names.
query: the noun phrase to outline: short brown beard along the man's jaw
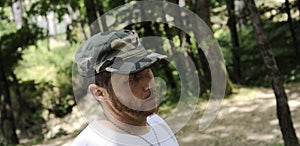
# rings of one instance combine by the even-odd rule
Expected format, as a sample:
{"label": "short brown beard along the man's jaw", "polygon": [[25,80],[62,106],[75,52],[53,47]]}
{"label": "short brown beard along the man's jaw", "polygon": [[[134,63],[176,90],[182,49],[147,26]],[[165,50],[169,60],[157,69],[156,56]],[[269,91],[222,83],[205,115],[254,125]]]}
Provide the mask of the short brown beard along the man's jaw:
{"label": "short brown beard along the man's jaw", "polygon": [[155,107],[153,107],[150,110],[136,110],[136,109],[132,109],[129,108],[128,106],[124,105],[119,98],[117,97],[114,91],[110,91],[110,98],[109,100],[111,100],[112,106],[117,109],[119,112],[124,112],[127,113],[129,115],[132,116],[138,116],[138,117],[147,117],[149,115],[152,115],[154,113],[156,113],[158,111],[158,106],[156,105]]}

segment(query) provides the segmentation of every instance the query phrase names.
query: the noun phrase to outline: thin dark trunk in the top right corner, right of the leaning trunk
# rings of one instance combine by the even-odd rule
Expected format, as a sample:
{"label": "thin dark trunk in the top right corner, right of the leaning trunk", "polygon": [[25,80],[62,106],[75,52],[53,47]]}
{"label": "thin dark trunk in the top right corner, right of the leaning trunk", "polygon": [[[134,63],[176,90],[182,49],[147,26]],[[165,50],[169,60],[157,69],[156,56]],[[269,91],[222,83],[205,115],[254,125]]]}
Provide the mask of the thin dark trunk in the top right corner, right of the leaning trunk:
{"label": "thin dark trunk in the top right corner, right of the leaning trunk", "polygon": [[286,11],[286,14],[288,15],[288,23],[290,26],[290,31],[291,31],[291,35],[292,35],[292,39],[293,39],[293,43],[294,43],[295,54],[298,57],[298,56],[300,56],[299,47],[298,47],[298,43],[297,43],[298,40],[297,40],[296,31],[294,29],[293,19],[291,17],[291,9],[290,9],[289,0],[285,0],[285,11]]}

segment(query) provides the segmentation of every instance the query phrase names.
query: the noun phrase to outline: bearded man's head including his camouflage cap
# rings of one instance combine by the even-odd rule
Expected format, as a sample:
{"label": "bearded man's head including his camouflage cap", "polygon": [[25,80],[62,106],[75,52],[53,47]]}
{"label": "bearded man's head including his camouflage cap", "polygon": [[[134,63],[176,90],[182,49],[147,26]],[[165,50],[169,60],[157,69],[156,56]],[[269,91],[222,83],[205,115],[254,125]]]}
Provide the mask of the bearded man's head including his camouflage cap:
{"label": "bearded man's head including his camouflage cap", "polygon": [[90,80],[89,93],[104,103],[104,108],[149,114],[157,103],[149,66],[165,57],[147,52],[136,33],[119,30],[88,39],[75,60],[80,75]]}

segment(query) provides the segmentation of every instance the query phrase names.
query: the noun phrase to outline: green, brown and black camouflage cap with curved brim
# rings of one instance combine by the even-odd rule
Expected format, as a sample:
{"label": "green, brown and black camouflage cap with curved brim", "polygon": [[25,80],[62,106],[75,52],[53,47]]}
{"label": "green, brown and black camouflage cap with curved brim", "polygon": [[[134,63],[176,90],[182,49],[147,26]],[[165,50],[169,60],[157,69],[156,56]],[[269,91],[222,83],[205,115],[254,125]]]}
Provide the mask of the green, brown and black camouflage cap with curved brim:
{"label": "green, brown and black camouflage cap with curved brim", "polygon": [[76,52],[75,62],[83,77],[103,71],[129,74],[139,72],[167,56],[148,52],[130,30],[98,33],[89,38]]}

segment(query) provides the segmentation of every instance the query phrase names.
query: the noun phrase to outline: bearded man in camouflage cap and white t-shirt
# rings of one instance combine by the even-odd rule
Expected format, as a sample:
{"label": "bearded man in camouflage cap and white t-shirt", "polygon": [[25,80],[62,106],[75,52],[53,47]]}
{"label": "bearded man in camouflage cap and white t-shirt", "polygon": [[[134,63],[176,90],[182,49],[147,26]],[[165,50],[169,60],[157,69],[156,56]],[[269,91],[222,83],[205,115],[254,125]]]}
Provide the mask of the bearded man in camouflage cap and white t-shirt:
{"label": "bearded man in camouflage cap and white t-shirt", "polygon": [[150,69],[165,55],[147,52],[136,33],[99,33],[76,52],[78,72],[103,108],[103,119],[91,122],[73,146],[176,146],[175,135],[155,112],[158,98]]}

